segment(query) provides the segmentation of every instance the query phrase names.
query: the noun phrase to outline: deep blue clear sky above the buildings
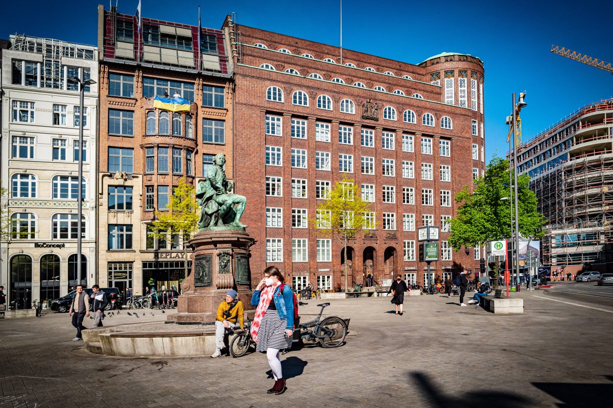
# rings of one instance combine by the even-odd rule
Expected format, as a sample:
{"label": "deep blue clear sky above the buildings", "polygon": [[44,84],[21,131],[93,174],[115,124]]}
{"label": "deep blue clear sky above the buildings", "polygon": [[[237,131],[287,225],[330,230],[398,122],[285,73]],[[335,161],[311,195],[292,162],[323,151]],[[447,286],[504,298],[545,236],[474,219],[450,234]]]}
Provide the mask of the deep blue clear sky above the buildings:
{"label": "deep blue clear sky above the buildings", "polygon": [[[115,0],[113,0],[113,3]],[[138,0],[118,0],[134,13]],[[0,37],[15,32],[96,44],[98,1],[5,2]],[[107,9],[109,2],[102,1]],[[180,4],[180,6],[178,6]],[[331,45],[339,41],[338,1],[142,0],[144,17],[220,28],[226,14],[240,24]],[[343,1],[343,46],[418,64],[443,51],[485,63],[486,153],[507,150],[511,93],[527,90],[524,140],[577,108],[613,97],[613,75],[549,52],[566,46],[613,62],[611,1]]]}

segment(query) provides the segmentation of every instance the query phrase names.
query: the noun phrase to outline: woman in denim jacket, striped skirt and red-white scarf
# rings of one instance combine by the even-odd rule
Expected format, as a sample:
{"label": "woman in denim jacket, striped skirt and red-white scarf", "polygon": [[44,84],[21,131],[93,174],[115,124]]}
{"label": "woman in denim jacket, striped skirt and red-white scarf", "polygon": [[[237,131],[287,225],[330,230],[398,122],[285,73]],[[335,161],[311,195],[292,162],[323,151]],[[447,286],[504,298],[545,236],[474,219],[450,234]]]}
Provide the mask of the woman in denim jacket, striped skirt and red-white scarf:
{"label": "woman in denim jacket, striped skirt and red-white scarf", "polygon": [[257,284],[251,305],[257,306],[251,337],[256,342],[256,351],[266,353],[275,378],[275,385],[267,393],[283,394],[287,387],[281,371],[280,351],[292,346],[294,294],[276,266],[264,270],[264,279]]}

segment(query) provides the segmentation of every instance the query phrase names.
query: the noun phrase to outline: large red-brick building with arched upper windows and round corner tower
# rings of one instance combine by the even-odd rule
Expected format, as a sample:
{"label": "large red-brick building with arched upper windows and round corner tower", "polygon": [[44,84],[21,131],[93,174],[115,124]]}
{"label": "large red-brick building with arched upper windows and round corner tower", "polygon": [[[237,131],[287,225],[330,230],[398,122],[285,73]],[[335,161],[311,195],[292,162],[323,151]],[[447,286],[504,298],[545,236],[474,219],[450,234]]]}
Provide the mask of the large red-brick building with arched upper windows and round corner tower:
{"label": "large red-brick building with arched upper windows and round corner tower", "polygon": [[[403,273],[424,282],[417,228],[454,215],[454,195],[484,171],[483,63],[443,53],[413,65],[237,26],[234,174],[248,198],[256,280],[278,265],[294,287],[340,289],[340,242],[308,225],[325,190],[354,179],[375,229],[349,243],[351,282]],[[363,112],[364,104],[370,110]],[[376,104],[376,111],[373,111]],[[367,115],[363,115],[367,113]],[[479,269],[479,250],[452,253],[441,229],[432,276]]]}

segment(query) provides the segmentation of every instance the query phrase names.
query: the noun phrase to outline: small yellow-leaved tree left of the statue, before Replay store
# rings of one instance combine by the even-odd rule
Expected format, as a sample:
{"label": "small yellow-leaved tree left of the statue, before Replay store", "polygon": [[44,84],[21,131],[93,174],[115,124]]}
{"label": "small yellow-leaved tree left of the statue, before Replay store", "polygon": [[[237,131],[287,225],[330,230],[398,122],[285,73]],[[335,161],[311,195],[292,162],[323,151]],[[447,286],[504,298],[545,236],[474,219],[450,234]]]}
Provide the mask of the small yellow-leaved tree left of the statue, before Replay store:
{"label": "small yellow-leaved tree left of the statue, before Replay store", "polygon": [[194,195],[194,186],[185,177],[173,188],[172,196],[166,206],[168,211],[156,211],[156,220],[151,223],[151,237],[166,241],[170,236],[183,241],[183,258],[185,259],[185,276],[188,276],[187,242],[198,231],[200,218],[199,206]]}

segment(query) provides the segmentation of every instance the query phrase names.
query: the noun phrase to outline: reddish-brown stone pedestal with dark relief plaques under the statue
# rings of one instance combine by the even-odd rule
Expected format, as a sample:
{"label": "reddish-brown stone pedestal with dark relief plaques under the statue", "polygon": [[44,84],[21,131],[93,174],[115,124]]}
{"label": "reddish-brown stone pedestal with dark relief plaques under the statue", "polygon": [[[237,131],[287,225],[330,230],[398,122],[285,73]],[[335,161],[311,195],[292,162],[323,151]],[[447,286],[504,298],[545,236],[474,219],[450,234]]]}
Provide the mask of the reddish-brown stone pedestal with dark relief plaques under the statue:
{"label": "reddish-brown stone pedestal with dark relief plaques under the statue", "polygon": [[166,320],[179,324],[213,323],[229,289],[238,292],[245,311],[252,310],[249,247],[254,243],[243,229],[219,227],[198,232],[189,240],[194,251],[192,270],[181,282],[178,313],[169,314]]}

